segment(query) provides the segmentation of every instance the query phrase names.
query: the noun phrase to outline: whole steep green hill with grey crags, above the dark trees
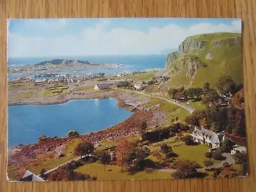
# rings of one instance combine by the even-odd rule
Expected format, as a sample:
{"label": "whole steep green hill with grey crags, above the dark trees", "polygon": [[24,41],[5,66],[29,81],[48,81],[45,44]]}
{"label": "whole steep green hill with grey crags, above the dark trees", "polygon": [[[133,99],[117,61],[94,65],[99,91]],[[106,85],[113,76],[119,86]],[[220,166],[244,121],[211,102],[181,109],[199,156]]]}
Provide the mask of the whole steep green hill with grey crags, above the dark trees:
{"label": "whole steep green hill with grey crags, above the dark trees", "polygon": [[208,81],[212,88],[220,76],[231,76],[243,83],[243,61],[240,33],[209,33],[189,36],[179,51],[168,54],[166,69],[170,80],[164,85],[198,86]]}

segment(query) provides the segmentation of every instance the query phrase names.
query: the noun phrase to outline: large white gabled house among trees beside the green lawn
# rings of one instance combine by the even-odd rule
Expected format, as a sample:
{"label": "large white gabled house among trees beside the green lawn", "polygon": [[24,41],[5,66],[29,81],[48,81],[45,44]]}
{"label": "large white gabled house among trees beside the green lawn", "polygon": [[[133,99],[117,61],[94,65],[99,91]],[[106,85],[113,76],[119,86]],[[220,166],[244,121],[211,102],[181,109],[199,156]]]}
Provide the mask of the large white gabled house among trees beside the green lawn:
{"label": "large white gabled house among trees beside the green lawn", "polygon": [[211,145],[211,149],[220,148],[221,141],[224,141],[225,135],[221,132],[213,132],[208,129],[197,129],[195,127],[194,131],[191,133],[195,142]]}

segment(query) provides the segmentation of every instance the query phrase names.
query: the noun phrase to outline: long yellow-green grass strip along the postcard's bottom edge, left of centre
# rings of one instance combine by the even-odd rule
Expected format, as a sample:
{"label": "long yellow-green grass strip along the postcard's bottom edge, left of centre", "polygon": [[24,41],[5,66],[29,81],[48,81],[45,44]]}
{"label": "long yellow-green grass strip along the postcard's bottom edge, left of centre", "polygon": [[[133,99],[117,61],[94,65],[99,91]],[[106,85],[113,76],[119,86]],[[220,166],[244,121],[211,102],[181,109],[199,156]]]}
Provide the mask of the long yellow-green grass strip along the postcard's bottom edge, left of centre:
{"label": "long yellow-green grass strip along the postcard's bottom edge, left of centre", "polygon": [[153,171],[152,173],[138,172],[129,175],[128,172],[120,172],[121,167],[116,165],[107,165],[104,172],[104,165],[98,163],[85,164],[75,170],[88,175],[97,176],[97,180],[130,180],[130,179],[171,179],[171,173]]}

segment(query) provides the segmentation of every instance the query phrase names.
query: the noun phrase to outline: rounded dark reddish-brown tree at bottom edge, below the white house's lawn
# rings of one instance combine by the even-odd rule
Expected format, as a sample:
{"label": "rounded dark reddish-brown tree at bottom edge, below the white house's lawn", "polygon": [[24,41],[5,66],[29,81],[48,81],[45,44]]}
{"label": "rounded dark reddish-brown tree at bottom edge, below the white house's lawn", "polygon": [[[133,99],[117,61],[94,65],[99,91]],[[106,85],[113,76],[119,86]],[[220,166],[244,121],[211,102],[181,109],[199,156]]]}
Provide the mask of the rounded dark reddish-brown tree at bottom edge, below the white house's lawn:
{"label": "rounded dark reddish-brown tree at bottom edge, below the white house's lawn", "polygon": [[188,160],[180,161],[179,163],[177,163],[177,166],[175,166],[175,168],[176,171],[172,173],[172,177],[174,179],[193,178],[197,175],[196,168],[198,168],[198,166]]}

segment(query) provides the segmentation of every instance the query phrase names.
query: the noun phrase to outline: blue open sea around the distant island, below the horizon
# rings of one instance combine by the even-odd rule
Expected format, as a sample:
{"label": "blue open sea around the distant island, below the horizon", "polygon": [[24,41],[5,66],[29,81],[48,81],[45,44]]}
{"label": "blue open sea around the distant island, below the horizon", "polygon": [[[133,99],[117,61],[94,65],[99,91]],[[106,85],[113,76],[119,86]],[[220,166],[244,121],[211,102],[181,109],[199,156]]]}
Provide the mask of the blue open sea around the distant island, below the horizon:
{"label": "blue open sea around the distant island, below the horizon", "polygon": [[[77,72],[61,72],[65,74],[89,74],[96,72],[104,72],[105,74],[113,74],[116,72],[140,71],[148,68],[164,68],[166,54],[152,54],[152,55],[139,55],[139,56],[80,56],[80,57],[61,57],[69,60],[88,60],[91,63],[109,63],[109,64],[123,64],[125,68],[112,68],[112,69],[92,69]],[[53,60],[56,58],[9,58],[8,65],[28,65],[35,64],[45,60]],[[19,76],[8,76],[8,79],[14,79]]]}

